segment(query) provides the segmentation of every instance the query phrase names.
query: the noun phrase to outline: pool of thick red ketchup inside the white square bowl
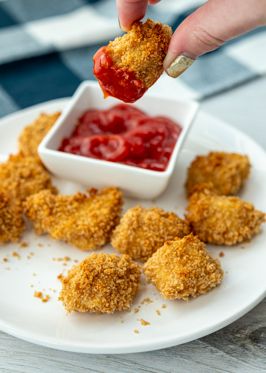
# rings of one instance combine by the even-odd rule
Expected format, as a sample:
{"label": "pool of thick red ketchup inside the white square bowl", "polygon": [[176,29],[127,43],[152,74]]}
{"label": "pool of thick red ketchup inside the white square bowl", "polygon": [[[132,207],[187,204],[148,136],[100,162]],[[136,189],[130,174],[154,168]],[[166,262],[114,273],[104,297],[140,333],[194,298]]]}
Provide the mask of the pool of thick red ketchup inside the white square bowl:
{"label": "pool of thick red ketchup inside the white square bowl", "polygon": [[166,117],[149,117],[131,105],[89,110],[79,118],[66,153],[165,171],[181,127]]}

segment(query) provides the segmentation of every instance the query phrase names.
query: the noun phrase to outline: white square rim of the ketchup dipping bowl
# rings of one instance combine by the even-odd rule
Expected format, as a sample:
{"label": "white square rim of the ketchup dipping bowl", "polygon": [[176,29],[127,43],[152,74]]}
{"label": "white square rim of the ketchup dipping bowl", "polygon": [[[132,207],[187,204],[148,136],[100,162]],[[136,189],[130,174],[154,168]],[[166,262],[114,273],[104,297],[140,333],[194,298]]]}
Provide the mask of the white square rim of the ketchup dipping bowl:
{"label": "white square rim of the ketchup dipping bowl", "polygon": [[[62,125],[63,121],[67,118],[69,115],[70,111],[73,110],[75,105],[77,104],[77,101],[83,94],[86,88],[88,87],[99,87],[98,82],[92,81],[92,80],[85,80],[80,85],[77,87],[76,91],[74,92],[73,96],[70,98],[69,103],[67,103],[66,107],[62,111],[61,115],[59,118],[56,120],[54,123],[53,127],[50,129],[50,131],[45,135],[45,137],[42,139],[38,146],[38,154],[39,157],[42,159],[42,153],[48,154],[50,156],[56,156],[56,157],[63,157],[64,159],[69,159],[69,160],[77,160],[78,162],[83,162],[83,163],[90,163],[90,164],[95,164],[99,166],[105,166],[105,167],[113,167],[113,169],[120,169],[120,170],[131,170],[134,173],[139,173],[143,174],[145,173],[146,175],[151,175],[151,176],[157,176],[159,178],[165,178],[168,177],[172,174],[174,171],[174,167],[178,158],[179,150],[181,146],[184,143],[184,140],[191,128],[191,125],[193,124],[196,115],[199,111],[200,104],[194,100],[181,100],[181,99],[169,99],[165,97],[161,97],[160,95],[154,95],[154,94],[149,94],[148,92],[145,93],[145,97],[151,97],[155,99],[161,99],[165,101],[172,101],[174,102],[180,102],[180,103],[186,103],[191,105],[191,118],[189,124],[186,126],[186,128],[182,127],[182,131],[180,135],[178,136],[178,139],[175,143],[174,149],[172,151],[172,154],[170,156],[169,162],[167,164],[167,168],[164,171],[156,171],[156,170],[150,170],[150,169],[145,169],[142,167],[137,167],[137,166],[131,166],[129,164],[123,164],[123,163],[118,163],[118,162],[111,162],[103,159],[96,159],[96,158],[91,158],[91,157],[85,157],[81,156],[78,154],[72,154],[72,153],[66,153],[60,150],[56,149],[51,149],[48,148],[47,144],[48,142],[53,138],[54,134],[56,131],[60,128]],[[123,102],[123,101],[121,101]],[[180,139],[180,140],[179,140]],[[179,141],[178,141],[179,140]],[[74,158],[73,158],[74,157]],[[130,167],[130,169],[129,169]]]}

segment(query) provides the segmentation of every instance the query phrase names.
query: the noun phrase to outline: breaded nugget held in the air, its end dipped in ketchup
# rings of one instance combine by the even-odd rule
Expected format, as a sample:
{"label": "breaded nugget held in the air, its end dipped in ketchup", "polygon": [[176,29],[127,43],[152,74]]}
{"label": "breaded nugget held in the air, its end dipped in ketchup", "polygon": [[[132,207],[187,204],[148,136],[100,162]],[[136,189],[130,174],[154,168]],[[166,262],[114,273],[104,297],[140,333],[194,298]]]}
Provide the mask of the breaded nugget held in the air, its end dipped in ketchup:
{"label": "breaded nugget held in the air, its end dipped in ketchup", "polygon": [[146,19],[135,21],[122,37],[94,56],[94,75],[105,96],[128,103],[138,100],[162,75],[172,29]]}

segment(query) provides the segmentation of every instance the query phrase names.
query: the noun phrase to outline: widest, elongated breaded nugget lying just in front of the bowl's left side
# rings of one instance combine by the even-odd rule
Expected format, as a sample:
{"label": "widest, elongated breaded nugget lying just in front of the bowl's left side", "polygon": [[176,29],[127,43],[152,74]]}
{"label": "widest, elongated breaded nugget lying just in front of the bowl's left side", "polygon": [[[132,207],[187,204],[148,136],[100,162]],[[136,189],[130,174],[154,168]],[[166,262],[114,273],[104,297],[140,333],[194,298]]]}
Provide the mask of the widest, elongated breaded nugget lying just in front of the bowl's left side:
{"label": "widest, elongated breaded nugget lying just in front of the bowl's left side", "polygon": [[35,233],[48,233],[54,241],[62,239],[80,250],[94,250],[106,244],[120,219],[122,193],[106,188],[89,197],[54,195],[43,190],[29,196],[23,203],[26,217],[34,223]]}

